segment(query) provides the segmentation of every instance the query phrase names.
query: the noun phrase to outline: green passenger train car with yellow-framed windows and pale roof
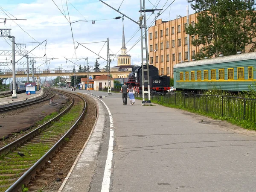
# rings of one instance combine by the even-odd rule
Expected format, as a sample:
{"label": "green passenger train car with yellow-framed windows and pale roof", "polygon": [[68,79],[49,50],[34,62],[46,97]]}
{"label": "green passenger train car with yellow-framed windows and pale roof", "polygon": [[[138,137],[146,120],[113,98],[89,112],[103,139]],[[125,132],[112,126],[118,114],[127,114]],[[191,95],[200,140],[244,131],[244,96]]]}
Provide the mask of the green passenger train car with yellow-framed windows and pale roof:
{"label": "green passenger train car with yellow-framed windows and pale roof", "polygon": [[248,91],[256,83],[256,52],[179,63],[173,71],[176,90]]}

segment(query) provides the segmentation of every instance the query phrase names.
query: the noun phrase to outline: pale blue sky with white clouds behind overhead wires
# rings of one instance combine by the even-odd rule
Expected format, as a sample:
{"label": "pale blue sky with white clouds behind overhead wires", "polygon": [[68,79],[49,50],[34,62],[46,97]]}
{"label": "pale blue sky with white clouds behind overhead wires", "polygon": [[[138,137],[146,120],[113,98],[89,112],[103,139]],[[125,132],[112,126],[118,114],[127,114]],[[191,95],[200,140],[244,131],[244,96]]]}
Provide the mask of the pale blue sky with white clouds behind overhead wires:
{"label": "pale blue sky with white clouds behind overhead wires", "polygon": [[[103,1],[131,19],[139,20],[140,0]],[[187,0],[145,0],[146,9],[163,9],[157,17],[162,20],[173,20],[177,15],[186,16],[187,5],[189,5]],[[192,12],[189,6],[189,14]],[[157,13],[159,11],[146,14],[148,28],[154,25]],[[103,58],[107,59],[107,38],[109,38],[110,54],[121,53],[122,19],[114,19],[118,16],[122,15],[99,0],[0,0],[0,18],[26,19],[6,20],[5,24],[0,23],[0,29],[12,29],[11,35],[15,36],[15,43],[19,44],[16,50],[31,51],[46,40],[28,54],[29,60],[34,59],[35,67],[40,70],[54,70],[61,67],[64,70],[72,70],[75,64],[75,68],[78,69],[77,65],[83,67],[86,64],[84,58],[87,57],[89,66],[94,67],[98,55],[102,57],[98,59],[100,68],[105,67],[106,61]],[[75,22],[78,20],[83,21]],[[3,21],[0,19],[0,22]],[[69,22],[75,23],[70,26]],[[140,64],[141,44],[140,41],[137,43],[140,39],[139,26],[124,17],[124,30],[131,64]],[[81,45],[78,46],[77,42],[98,55]],[[11,45],[9,38],[0,37],[0,50],[12,50]],[[19,55],[15,56],[16,61],[20,58]],[[52,60],[47,61],[51,58]],[[116,58],[112,56],[111,59],[113,60],[111,67],[116,66]],[[12,56],[0,55],[0,62],[10,60]],[[21,58],[20,61],[26,61],[26,58]],[[26,66],[16,66],[16,69],[18,68],[26,69]],[[12,69],[12,66],[0,66],[0,69]]]}

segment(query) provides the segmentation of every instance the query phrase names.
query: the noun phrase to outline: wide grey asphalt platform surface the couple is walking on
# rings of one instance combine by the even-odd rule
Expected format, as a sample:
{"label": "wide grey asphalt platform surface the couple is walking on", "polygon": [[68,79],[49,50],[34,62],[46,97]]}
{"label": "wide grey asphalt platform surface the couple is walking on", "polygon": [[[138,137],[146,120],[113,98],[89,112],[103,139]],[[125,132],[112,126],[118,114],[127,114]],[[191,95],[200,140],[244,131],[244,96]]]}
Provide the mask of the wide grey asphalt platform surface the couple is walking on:
{"label": "wide grey asphalt platform surface the couple is walking on", "polygon": [[[140,100],[129,105],[128,99],[128,105],[123,105],[121,93],[107,96],[106,92],[76,92],[103,96],[96,100],[101,114],[98,123],[104,128],[97,129],[99,141],[95,143],[100,146],[91,148],[98,150],[96,157],[87,150],[84,156],[93,158],[84,164],[79,164],[81,158],[78,159],[62,191],[256,191],[255,131],[157,104],[142,106]],[[102,179],[110,122],[100,100],[108,106],[113,118],[113,161],[108,190],[102,188]],[[93,138],[92,134],[90,140]],[[93,169],[89,172],[86,165]],[[87,177],[87,181],[83,177]],[[86,182],[87,186],[83,186]]]}

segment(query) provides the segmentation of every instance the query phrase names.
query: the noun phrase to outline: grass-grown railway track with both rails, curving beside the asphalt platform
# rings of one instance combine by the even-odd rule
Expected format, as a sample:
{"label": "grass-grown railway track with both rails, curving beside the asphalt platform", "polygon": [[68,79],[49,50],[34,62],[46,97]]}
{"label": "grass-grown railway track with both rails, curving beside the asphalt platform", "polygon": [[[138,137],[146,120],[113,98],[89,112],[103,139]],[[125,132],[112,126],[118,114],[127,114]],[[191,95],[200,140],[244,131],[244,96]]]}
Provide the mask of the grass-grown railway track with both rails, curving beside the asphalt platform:
{"label": "grass-grown railway track with both rails, curving beside the asphalt platform", "polygon": [[71,98],[70,106],[59,116],[0,148],[0,192],[15,192],[29,183],[55,151],[69,140],[86,108],[81,96],[72,94]]}

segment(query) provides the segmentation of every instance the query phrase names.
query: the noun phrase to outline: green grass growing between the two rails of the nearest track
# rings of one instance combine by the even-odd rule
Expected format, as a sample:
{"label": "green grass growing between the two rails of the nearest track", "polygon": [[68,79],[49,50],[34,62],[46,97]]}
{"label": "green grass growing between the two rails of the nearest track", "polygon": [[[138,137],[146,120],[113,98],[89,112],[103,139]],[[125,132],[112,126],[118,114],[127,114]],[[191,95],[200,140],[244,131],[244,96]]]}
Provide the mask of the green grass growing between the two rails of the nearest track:
{"label": "green grass growing between the two rails of the nearest track", "polygon": [[[76,103],[76,105],[74,105],[68,113],[64,114],[58,122],[52,123],[49,128],[39,135],[41,140],[49,140],[51,137],[61,137],[64,135],[79,118],[82,110],[83,104],[81,102]],[[55,115],[56,114],[49,115],[44,120],[52,119]],[[8,154],[1,154],[0,186],[2,187],[0,187],[0,192],[8,189],[9,186],[14,183],[23,172],[26,172],[33,163],[39,160],[52,145],[52,143],[27,143],[20,148],[16,148],[15,151],[10,151]],[[20,157],[17,152],[25,156]]]}

